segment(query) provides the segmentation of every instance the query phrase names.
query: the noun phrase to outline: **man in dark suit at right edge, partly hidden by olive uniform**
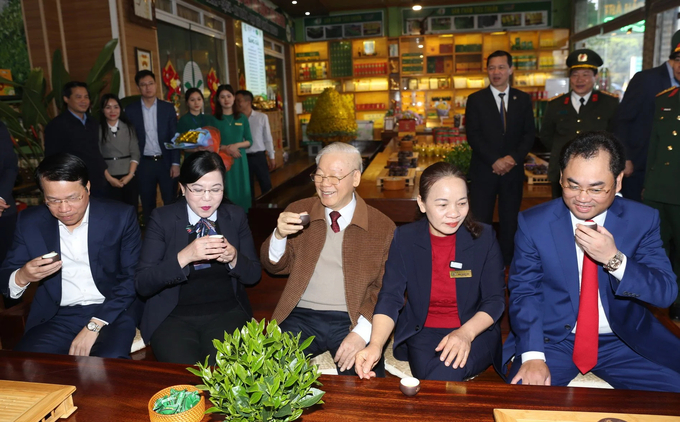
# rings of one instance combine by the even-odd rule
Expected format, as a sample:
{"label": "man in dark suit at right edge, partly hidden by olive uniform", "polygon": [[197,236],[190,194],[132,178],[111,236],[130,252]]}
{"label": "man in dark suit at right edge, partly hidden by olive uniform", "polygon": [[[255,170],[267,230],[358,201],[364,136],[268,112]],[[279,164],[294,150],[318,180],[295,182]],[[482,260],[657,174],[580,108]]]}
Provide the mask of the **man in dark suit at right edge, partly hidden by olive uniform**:
{"label": "man in dark suit at right edge, partly hidden by olive uniform", "polygon": [[668,61],[633,76],[615,116],[615,134],[626,147],[626,170],[621,194],[642,201],[647,148],[654,120],[656,94],[680,86],[680,31],[673,34]]}

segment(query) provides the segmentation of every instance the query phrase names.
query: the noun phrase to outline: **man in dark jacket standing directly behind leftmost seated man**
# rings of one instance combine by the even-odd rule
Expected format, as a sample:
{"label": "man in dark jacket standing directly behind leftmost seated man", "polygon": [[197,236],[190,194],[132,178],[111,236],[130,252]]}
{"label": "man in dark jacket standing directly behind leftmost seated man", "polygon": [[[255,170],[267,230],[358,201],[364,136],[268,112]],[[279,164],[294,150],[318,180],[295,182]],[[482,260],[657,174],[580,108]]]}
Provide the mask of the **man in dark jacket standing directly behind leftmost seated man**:
{"label": "man in dark jacket standing directly behind leftmost seated man", "polygon": [[62,89],[65,110],[45,126],[45,157],[73,154],[85,162],[91,195],[106,197],[106,162],[99,151],[99,124],[89,115],[87,84],[71,81]]}

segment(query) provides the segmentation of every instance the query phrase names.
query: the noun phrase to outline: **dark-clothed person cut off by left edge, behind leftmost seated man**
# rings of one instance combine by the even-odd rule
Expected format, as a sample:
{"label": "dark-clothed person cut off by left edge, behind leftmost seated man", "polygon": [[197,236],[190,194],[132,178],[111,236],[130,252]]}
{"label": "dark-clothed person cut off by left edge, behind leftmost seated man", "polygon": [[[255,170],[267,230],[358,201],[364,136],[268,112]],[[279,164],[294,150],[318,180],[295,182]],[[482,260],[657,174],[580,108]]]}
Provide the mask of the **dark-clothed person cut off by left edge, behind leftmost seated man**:
{"label": "dark-clothed person cut off by left edge, behind leftmost seated man", "polygon": [[[0,264],[12,246],[14,226],[17,222],[17,206],[12,189],[19,174],[19,160],[14,153],[12,138],[7,126],[0,122]],[[5,308],[14,306],[19,300],[3,297]]]}

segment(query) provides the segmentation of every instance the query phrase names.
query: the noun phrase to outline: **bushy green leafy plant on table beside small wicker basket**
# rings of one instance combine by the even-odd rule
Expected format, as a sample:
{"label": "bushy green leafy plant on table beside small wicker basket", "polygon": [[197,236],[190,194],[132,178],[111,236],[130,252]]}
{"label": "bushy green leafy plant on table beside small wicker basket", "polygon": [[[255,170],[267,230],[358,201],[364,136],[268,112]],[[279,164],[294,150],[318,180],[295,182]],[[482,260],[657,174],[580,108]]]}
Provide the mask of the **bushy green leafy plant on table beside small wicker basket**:
{"label": "bushy green leafy plant on table beside small wicker basket", "polygon": [[322,404],[324,392],[313,387],[320,373],[303,352],[314,337],[299,344],[300,334],[282,333],[275,320],[247,323],[224,341],[213,340],[215,366],[187,368],[203,380],[197,388],[210,392],[214,407],[233,421],[292,421],[305,408]]}

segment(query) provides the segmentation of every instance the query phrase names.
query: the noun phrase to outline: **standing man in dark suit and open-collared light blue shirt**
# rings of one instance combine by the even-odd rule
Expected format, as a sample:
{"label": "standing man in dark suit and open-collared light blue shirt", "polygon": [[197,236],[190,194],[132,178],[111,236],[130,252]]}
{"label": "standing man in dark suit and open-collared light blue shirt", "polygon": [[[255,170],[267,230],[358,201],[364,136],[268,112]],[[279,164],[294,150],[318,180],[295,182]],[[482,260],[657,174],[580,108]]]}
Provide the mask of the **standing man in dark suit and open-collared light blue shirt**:
{"label": "standing man in dark suit and open-collared light blue shirt", "polygon": [[125,114],[135,127],[142,158],[137,168],[139,196],[142,199],[142,221],[149,221],[156,208],[156,186],[160,187],[163,204],[171,204],[177,197],[180,153],[165,148],[177,129],[177,114],[172,104],[156,98],[156,76],[150,70],[140,70],[135,82],[142,96],[125,107]]}

